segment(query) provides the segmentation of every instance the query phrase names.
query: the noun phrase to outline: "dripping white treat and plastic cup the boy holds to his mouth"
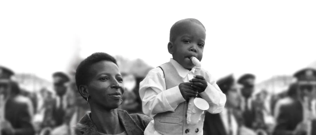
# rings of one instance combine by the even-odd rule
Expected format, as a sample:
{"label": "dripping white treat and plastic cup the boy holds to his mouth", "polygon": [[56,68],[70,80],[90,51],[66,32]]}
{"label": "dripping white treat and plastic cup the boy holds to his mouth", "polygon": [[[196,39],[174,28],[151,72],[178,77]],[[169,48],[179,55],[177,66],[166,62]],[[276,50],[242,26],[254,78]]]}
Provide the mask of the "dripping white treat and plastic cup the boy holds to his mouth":
{"label": "dripping white treat and plastic cup the boy holds to his mouth", "polygon": [[[201,72],[201,63],[195,58],[191,57],[192,63],[195,65],[194,75],[200,75]],[[198,121],[201,120],[201,115],[205,110],[209,109],[209,104],[203,98],[191,97],[189,99],[188,110],[186,121],[189,125],[197,125]]]}

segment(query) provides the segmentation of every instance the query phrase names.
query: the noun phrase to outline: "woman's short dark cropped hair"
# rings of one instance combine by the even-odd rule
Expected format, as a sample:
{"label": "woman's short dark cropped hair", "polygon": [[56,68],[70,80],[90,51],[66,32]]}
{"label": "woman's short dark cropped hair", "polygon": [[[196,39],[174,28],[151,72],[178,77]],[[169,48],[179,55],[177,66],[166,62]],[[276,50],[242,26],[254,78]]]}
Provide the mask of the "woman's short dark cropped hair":
{"label": "woman's short dark cropped hair", "polygon": [[[109,55],[107,53],[102,53],[102,52],[93,53],[90,56],[88,56],[86,59],[84,59],[83,61],[80,62],[80,64],[78,65],[78,67],[76,69],[76,77],[75,77],[78,92],[79,92],[79,86],[87,84],[89,81],[88,80],[89,79],[89,70],[90,70],[91,65],[93,65],[94,63],[103,61],[103,60],[111,61],[111,62],[115,63],[115,65],[117,65],[116,59],[114,57],[112,57],[111,55]],[[85,100],[87,100],[87,99],[85,99]]]}

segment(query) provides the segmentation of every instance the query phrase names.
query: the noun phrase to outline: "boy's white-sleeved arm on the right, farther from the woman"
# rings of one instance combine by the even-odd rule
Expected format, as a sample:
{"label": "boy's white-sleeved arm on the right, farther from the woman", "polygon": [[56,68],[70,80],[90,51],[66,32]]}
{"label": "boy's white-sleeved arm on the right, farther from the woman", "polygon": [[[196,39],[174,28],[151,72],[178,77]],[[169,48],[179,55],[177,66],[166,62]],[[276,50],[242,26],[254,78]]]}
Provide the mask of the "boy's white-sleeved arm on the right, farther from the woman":
{"label": "boy's white-sleeved arm on the right, farther from the woman", "polygon": [[217,86],[216,80],[209,73],[210,82],[207,82],[207,87],[204,92],[200,93],[200,96],[206,100],[210,108],[207,110],[211,114],[217,114],[223,111],[226,103],[226,95],[222,93],[222,90]]}

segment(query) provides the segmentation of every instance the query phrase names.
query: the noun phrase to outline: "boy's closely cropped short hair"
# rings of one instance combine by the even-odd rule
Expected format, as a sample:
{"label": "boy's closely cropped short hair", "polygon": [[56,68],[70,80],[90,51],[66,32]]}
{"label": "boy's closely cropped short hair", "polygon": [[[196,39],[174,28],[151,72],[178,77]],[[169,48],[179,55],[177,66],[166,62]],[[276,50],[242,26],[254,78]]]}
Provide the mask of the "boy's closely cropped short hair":
{"label": "boy's closely cropped short hair", "polygon": [[187,19],[182,19],[182,20],[179,20],[177,21],[176,23],[174,23],[170,29],[170,37],[169,37],[169,42],[173,42],[175,40],[175,37],[176,36],[176,33],[178,31],[178,28],[181,24],[183,23],[186,23],[186,22],[194,22],[194,23],[197,23],[198,25],[201,25],[204,30],[206,31],[204,25],[197,19],[194,19],[194,18],[187,18]]}

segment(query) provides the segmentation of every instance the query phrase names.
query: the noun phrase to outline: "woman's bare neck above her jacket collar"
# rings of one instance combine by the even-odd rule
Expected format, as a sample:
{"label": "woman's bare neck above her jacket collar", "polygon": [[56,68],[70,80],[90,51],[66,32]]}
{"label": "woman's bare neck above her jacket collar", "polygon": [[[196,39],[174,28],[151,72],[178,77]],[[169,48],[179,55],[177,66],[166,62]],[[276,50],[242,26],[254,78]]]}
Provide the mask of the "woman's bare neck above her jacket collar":
{"label": "woman's bare neck above her jacket collar", "polygon": [[119,122],[117,109],[105,110],[91,105],[91,119],[100,133],[119,134],[124,131]]}

